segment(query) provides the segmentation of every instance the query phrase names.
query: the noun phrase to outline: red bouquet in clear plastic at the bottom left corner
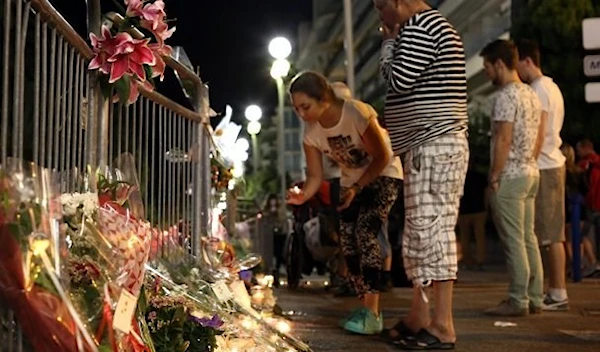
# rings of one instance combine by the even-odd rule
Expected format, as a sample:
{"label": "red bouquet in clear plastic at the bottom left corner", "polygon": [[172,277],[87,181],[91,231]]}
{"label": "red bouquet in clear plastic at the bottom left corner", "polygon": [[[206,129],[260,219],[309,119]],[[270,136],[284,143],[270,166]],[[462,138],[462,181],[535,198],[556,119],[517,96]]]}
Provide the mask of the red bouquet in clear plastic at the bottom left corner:
{"label": "red bouquet in clear plastic at the bottom left corner", "polygon": [[0,168],[0,302],[32,349],[96,351],[59,279],[61,208],[49,170],[19,160]]}

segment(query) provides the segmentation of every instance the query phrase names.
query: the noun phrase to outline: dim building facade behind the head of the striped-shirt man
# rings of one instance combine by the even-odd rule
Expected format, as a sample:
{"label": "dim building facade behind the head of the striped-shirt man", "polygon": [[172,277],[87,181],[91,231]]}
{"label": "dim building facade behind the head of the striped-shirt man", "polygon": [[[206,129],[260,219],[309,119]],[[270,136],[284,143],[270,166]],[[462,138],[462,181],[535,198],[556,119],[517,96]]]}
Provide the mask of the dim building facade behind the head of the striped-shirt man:
{"label": "dim building facade behind the head of the striped-shirt man", "polygon": [[[479,52],[489,41],[508,36],[511,0],[428,2],[450,20],[463,38],[470,96],[489,94],[492,89]],[[354,0],[352,4],[356,96],[380,107],[385,96],[385,82],[379,76],[380,22],[371,1]],[[345,80],[342,1],[313,0],[313,22],[303,25],[300,36],[299,69],[319,71],[332,81]]]}

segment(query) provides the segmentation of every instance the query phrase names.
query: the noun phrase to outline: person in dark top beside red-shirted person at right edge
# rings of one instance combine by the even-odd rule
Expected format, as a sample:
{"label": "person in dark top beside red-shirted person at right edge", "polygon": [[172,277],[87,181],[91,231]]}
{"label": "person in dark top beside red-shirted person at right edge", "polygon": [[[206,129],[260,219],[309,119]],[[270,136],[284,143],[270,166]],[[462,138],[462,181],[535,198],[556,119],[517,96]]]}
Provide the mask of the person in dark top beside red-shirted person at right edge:
{"label": "person in dark top beside red-shirted person at right edge", "polygon": [[[575,163],[575,150],[571,145],[567,143],[563,143],[560,147],[560,151],[565,156],[565,165],[567,169],[567,178],[566,178],[566,226],[565,226],[565,237],[567,238],[566,242],[566,251],[568,260],[572,260],[573,258],[573,247],[571,245],[571,219],[570,214],[573,205],[570,200],[576,199],[578,197],[582,198],[587,194],[587,180],[586,173],[583,169],[581,169]],[[586,259],[587,265],[582,268],[582,275],[584,277],[593,276],[597,272],[600,271],[600,263],[598,263],[598,259],[596,256],[596,250],[594,249],[594,244],[590,238],[591,231],[589,231],[589,227],[585,224],[584,214],[586,213],[585,209],[582,209],[581,215],[582,219],[579,224],[579,228],[581,231],[581,256]]]}

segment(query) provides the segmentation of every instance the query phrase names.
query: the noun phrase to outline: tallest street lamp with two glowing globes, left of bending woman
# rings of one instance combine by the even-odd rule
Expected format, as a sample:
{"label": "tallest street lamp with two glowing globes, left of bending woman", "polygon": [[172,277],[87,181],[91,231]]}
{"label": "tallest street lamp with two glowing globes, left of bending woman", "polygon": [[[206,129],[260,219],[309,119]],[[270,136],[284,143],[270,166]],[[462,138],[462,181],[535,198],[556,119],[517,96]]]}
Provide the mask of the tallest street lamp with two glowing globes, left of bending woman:
{"label": "tallest street lamp with two glowing globes, left of bending woman", "polygon": [[277,83],[277,96],[279,102],[278,115],[279,124],[277,128],[277,144],[279,146],[278,160],[279,172],[281,173],[281,199],[285,199],[286,195],[286,184],[285,184],[285,164],[283,159],[284,154],[284,99],[285,99],[285,86],[283,79],[287,77],[290,72],[290,62],[287,58],[292,53],[292,44],[289,40],[284,37],[277,37],[271,40],[269,43],[269,53],[275,59],[273,66],[271,67],[271,77]]}

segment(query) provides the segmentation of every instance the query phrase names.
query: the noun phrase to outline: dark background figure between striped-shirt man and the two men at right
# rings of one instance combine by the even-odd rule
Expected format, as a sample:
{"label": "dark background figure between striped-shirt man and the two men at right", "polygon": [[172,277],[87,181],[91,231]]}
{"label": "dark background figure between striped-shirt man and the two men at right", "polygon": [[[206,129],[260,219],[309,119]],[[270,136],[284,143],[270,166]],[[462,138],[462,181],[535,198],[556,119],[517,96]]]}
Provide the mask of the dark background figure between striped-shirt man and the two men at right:
{"label": "dark background figure between striped-shirt man and the two men at right", "polygon": [[[465,180],[465,194],[460,199],[458,231],[465,268],[483,270],[485,264],[485,223],[487,220],[489,189],[484,174],[474,168],[473,159]],[[475,258],[471,253],[471,236],[475,235]]]}

